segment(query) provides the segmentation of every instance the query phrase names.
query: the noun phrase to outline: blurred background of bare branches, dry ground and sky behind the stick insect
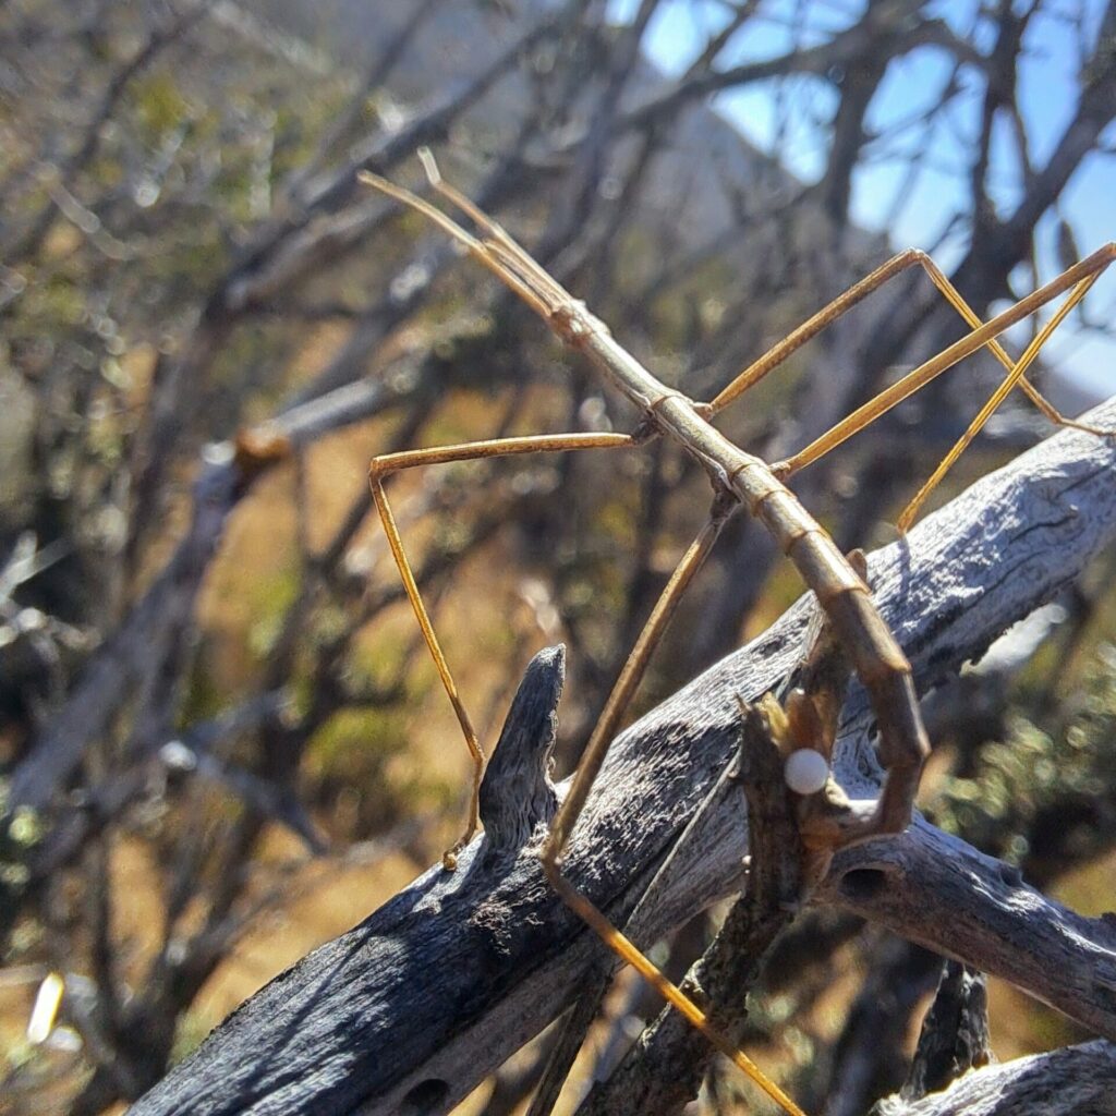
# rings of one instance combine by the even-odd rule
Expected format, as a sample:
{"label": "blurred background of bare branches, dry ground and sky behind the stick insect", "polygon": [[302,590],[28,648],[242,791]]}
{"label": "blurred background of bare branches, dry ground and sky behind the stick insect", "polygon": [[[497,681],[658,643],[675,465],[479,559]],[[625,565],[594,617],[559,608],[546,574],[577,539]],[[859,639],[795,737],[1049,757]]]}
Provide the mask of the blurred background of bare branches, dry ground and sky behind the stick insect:
{"label": "blurred background of bare branches, dry ground and sky behind the stick insect", "polygon": [[[0,932],[6,971],[67,975],[38,1045],[36,980],[0,983],[12,1110],[119,1107],[452,838],[464,750],[368,518],[367,461],[637,420],[357,170],[417,182],[432,145],[641,358],[709,397],[895,248],[932,250],[988,315],[1110,239],[1114,117],[1101,0],[0,4]],[[1046,354],[1064,410],[1110,382],[1114,290]],[[785,456],[961,329],[924,277],[897,279],[723,429]],[[801,477],[840,546],[889,537],[998,375],[968,362]],[[1048,429],[1009,401],[949,491]],[[398,483],[489,747],[530,655],[567,644],[562,773],[708,503],[670,448],[622,456]],[[934,695],[924,796],[1089,913],[1110,904],[1110,567],[1026,652]],[[799,591],[738,517],[642,708]],[[822,944],[780,940],[750,1040],[812,1109],[864,1110],[901,1084],[936,969],[810,918]],[[706,930],[664,944],[674,971]],[[873,1023],[896,1038],[868,1071],[857,998],[896,973],[907,991]],[[1008,1052],[1076,1037],[1041,1012],[998,1023],[1008,997],[993,987]],[[603,1062],[654,1010],[609,1002]],[[539,1057],[473,1110],[489,1091],[512,1110]],[[733,1110],[715,1066],[711,1083]]]}

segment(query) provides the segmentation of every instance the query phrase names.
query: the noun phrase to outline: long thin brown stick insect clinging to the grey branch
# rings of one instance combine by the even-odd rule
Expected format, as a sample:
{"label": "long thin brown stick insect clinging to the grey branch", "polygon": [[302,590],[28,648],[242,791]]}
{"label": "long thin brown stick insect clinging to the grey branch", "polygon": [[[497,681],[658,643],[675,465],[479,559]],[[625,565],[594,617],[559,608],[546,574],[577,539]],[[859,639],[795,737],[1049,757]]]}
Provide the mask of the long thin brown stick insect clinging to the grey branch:
{"label": "long thin brown stick insect clinging to the grey branch", "polygon": [[[445,854],[444,866],[449,870],[456,866],[458,854],[477,830],[478,795],[484,758],[419,593],[387,500],[384,487],[386,479],[395,472],[422,465],[511,454],[632,448],[652,436],[675,441],[709,475],[714,490],[712,511],[708,522],[679,561],[624,664],[590,734],[573,783],[551,824],[539,856],[547,879],[555,891],[623,961],[646,979],[668,1003],[785,1112],[790,1116],[804,1116],[801,1109],[778,1085],[771,1081],[734,1043],[711,1027],[701,1008],[668,981],[624,934],[613,926],[602,911],[566,879],[562,874],[562,858],[570,835],[602,768],[608,745],[620,725],[672,614],[702,567],[725,521],[741,506],[745,506],[749,512],[764,525],[797,567],[807,586],[814,590],[834,638],[868,692],[878,725],[878,753],[885,769],[885,780],[878,801],[865,812],[829,816],[821,828],[815,825],[810,834],[811,843],[836,849],[870,836],[898,833],[907,826],[923,762],[930,748],[912,682],[911,666],[877,612],[870,589],[860,573],[840,554],[826,531],[786,488],[783,481],[863,430],[935,376],[984,346],[988,346],[1003,365],[1004,378],[958,444],[903,512],[898,521],[901,530],[910,526],[918,508],[945,471],[1014,387],[1020,387],[1051,420],[1079,426],[1080,424],[1071,423],[1060,415],[1027,381],[1026,373],[1054,330],[1085,297],[1108,264],[1116,259],[1116,243],[1109,243],[1094,252],[987,324],[981,323],[933,261],[917,250],[907,250],[850,287],[740,373],[711,402],[703,403],[695,402],[682,392],[661,383],[612,337],[603,321],[561,287],[500,225],[468,198],[445,183],[429,153],[420,153],[420,157],[431,187],[449,206],[472,222],[477,230],[475,234],[468,232],[445,211],[408,190],[367,172],[360,175],[360,180],[422,213],[462,244],[475,260],[492,271],[533,309],[566,345],[588,357],[603,381],[624,395],[644,416],[639,427],[632,434],[566,433],[503,437],[385,454],[374,459],[369,466],[372,494],[389,548],[472,760],[472,793],[465,831]],[[908,373],[898,383],[783,462],[776,464],[763,462],[734,445],[711,424],[711,420],[718,413],[827,325],[883,283],[915,266],[922,267],[930,276],[943,297],[970,327],[971,333]],[[1050,320],[1038,330],[1020,358],[1012,360],[995,339],[998,335],[1066,292],[1068,292],[1066,300]],[[1105,433],[1091,427],[1083,429],[1096,434]],[[802,740],[798,747],[809,749],[811,745],[808,740]],[[815,748],[825,751],[820,744],[816,744]],[[820,787],[819,782],[814,790],[820,790]]]}

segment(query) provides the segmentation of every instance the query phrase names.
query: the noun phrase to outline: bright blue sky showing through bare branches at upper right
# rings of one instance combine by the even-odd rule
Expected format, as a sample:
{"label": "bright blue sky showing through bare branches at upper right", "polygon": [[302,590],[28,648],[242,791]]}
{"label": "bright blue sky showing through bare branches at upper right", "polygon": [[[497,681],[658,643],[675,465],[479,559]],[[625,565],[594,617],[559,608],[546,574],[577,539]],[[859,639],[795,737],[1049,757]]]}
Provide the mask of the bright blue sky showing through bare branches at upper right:
{"label": "bright blue sky showing through bare branches at upper right", "polygon": [[[1088,44],[1095,40],[1103,0],[1056,0],[1039,12],[1024,39],[1020,66],[1020,110],[1031,151],[1031,162],[1041,166],[1071,118],[1077,100],[1078,57],[1076,32],[1058,12],[1086,10]],[[616,0],[614,16],[629,17],[637,0]],[[863,11],[863,0],[770,0],[760,7],[762,18],[752,30],[737,35],[718,59],[720,67],[778,56],[798,42],[809,46],[825,41],[848,27]],[[946,20],[980,49],[992,42],[991,27],[978,13],[977,0],[943,0],[929,11]],[[805,17],[801,12],[805,11]],[[709,0],[667,0],[648,31],[647,49],[667,73],[680,73],[704,45],[710,33],[727,19],[723,4]],[[921,47],[896,60],[872,104],[868,124],[881,138],[868,148],[865,166],[854,180],[853,215],[865,228],[887,229],[893,246],[917,246],[932,250],[949,269],[963,248],[963,234],[950,235],[951,219],[963,208],[965,175],[979,134],[982,84],[975,74],[962,71],[962,92],[940,123],[927,132],[917,118],[920,110],[936,103],[949,77],[944,52]],[[776,90],[781,88],[777,97]],[[814,181],[825,165],[828,135],[826,124],[836,105],[828,83],[802,77],[780,83],[762,83],[722,94],[718,109],[733,121],[758,146],[771,151],[779,144],[783,163],[801,179]],[[1105,135],[1116,147],[1116,127]],[[925,150],[924,170],[914,182],[905,182],[908,155]],[[1014,146],[1006,131],[995,136],[990,184],[993,200],[1011,212],[1021,192],[1021,173]],[[1064,194],[1062,215],[1075,232],[1081,254],[1116,239],[1116,155],[1090,155],[1078,169]],[[1060,268],[1054,249],[1056,218],[1048,214],[1039,224],[1040,278],[1052,278]],[[1116,269],[1113,269],[1116,272]],[[1020,294],[1029,289],[1026,275],[1019,277]],[[1101,278],[1090,292],[1090,320],[1116,321],[1116,273]],[[1116,392],[1116,341],[1078,326],[1070,316],[1050,341],[1050,357],[1074,379],[1098,396]]]}

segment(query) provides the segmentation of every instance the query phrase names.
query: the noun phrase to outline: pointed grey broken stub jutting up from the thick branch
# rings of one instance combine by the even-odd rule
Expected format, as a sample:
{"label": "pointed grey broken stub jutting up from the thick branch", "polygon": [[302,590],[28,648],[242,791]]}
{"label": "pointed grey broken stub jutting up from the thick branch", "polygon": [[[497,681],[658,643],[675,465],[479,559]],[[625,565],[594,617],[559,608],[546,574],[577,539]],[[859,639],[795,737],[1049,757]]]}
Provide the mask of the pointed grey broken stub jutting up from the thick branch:
{"label": "pointed grey broken stub jutting up from the thick branch", "polygon": [[550,824],[558,796],[550,756],[558,732],[558,700],[566,681],[566,648],[540,651],[527,665],[481,782],[485,862],[517,853]]}

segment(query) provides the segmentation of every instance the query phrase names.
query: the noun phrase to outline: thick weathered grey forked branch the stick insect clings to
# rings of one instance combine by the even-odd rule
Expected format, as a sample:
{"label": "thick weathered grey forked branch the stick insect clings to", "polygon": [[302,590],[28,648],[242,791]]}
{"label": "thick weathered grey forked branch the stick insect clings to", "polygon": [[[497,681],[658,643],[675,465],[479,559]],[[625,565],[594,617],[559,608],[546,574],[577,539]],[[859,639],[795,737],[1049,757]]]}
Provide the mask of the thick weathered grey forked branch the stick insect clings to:
{"label": "thick weathered grey forked branch the stick insect clings to", "polygon": [[[1091,421],[1116,426],[1116,402]],[[872,556],[877,597],[923,690],[1112,540],[1114,465],[1112,441],[1060,434]],[[737,696],[759,696],[796,664],[811,612],[804,598],[617,740],[567,867],[617,918],[719,779],[738,737]],[[878,786],[870,728],[854,689],[836,759],[853,797]],[[706,810],[692,831],[646,937],[739,888],[739,809]],[[924,822],[835,858],[817,902],[999,973],[1116,1038],[1116,929]],[[532,846],[489,857],[474,841],[455,874],[431,869],[272,981],[133,1113],[445,1110],[577,997],[598,950],[546,886]]]}

